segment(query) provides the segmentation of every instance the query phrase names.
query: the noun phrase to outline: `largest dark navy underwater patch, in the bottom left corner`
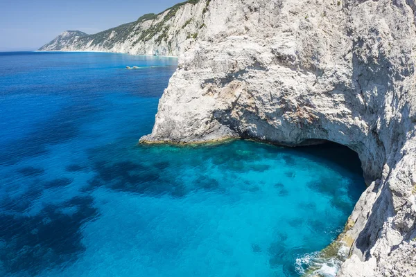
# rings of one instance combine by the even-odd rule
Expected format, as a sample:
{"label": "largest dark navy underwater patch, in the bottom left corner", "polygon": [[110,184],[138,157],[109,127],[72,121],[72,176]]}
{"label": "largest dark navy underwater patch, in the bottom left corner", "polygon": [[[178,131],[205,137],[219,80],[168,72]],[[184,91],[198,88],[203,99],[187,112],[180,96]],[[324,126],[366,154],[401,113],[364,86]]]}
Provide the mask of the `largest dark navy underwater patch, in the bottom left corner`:
{"label": "largest dark navy underwater patch, in the bottom left corner", "polygon": [[[85,251],[81,240],[83,224],[98,216],[92,197],[74,197],[60,205],[45,206],[38,215],[0,213],[6,228],[0,229],[3,270],[10,274],[35,276],[45,269],[76,260]],[[65,208],[76,211],[64,213]]]}

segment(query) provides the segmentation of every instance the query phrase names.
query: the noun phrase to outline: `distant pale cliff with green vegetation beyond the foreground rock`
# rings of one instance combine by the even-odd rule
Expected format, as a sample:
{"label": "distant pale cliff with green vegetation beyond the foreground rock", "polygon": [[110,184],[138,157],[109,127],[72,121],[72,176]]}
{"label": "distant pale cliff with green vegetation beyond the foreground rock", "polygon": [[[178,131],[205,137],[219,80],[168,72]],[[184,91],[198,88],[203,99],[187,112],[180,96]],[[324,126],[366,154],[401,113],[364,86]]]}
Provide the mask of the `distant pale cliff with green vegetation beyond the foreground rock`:
{"label": "distant pale cliff with green vegetation beyond the foreground rock", "polygon": [[39,51],[104,51],[135,55],[180,54],[204,31],[209,0],[189,0],[164,12],[139,17],[137,21],[87,35],[67,30]]}

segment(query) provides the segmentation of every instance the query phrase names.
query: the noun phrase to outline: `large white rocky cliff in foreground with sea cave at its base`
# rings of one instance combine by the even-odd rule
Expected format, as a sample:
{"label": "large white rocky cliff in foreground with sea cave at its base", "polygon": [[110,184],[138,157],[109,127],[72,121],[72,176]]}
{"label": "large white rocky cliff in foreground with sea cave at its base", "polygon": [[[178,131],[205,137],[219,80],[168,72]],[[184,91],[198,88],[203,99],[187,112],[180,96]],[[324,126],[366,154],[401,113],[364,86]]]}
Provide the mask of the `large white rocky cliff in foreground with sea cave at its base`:
{"label": "large white rocky cliff in foreground with sea cave at its base", "polygon": [[415,11],[415,0],[212,0],[141,143],[347,145],[369,188],[338,276],[416,276]]}

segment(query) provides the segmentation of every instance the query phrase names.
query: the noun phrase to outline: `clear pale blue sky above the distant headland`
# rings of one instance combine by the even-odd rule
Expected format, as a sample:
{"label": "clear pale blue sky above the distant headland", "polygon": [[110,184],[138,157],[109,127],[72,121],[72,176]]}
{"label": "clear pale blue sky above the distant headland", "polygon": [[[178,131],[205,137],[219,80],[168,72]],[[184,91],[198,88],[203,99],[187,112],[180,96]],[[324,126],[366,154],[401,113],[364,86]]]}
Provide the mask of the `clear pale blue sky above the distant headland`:
{"label": "clear pale blue sky above the distant headland", "polygon": [[0,51],[36,50],[64,30],[98,33],[184,0],[0,0]]}

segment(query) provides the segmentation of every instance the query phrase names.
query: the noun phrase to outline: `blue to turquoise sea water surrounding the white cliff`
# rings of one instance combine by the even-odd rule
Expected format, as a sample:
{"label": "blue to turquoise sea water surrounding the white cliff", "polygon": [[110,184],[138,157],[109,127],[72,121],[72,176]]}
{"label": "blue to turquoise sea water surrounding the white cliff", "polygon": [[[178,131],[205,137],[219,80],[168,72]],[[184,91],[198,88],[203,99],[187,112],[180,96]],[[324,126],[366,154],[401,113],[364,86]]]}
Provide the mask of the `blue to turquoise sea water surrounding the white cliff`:
{"label": "blue to turquoise sea water surrounding the white cliff", "polygon": [[176,63],[0,53],[0,276],[300,276],[342,231],[339,145],[137,145]]}

